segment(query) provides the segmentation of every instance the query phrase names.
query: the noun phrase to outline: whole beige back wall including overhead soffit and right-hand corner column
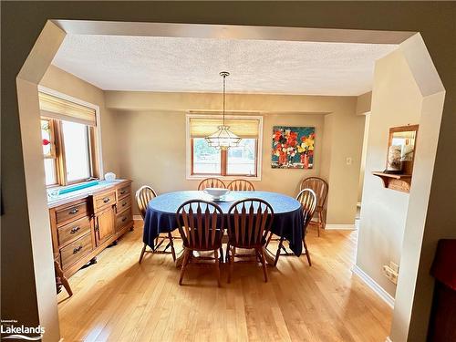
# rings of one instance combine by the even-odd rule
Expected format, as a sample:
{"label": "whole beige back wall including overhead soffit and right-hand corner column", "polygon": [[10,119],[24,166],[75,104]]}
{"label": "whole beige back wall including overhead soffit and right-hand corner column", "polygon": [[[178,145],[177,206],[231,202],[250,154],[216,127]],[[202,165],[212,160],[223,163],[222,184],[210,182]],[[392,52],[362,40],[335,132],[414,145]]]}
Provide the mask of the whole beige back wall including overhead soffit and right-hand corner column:
{"label": "whole beige back wall including overhead soffit and right-hand corner column", "polygon": [[[134,189],[144,183],[150,183],[159,192],[196,189],[199,181],[185,180],[185,112],[220,109],[220,100],[220,94],[106,92],[106,105],[118,109],[117,134],[124,137],[119,145],[120,175],[132,179]],[[363,118],[355,116],[355,108],[356,98],[350,97],[241,94],[227,97],[228,110],[256,112],[264,117],[262,180],[254,181],[255,187],[295,196],[300,180],[322,174],[331,189],[328,223],[336,224],[353,223],[355,218],[357,198],[356,192],[354,196],[351,192],[352,187],[358,186],[363,126]],[[324,122],[329,116],[337,126],[326,133]],[[271,168],[271,135],[275,125],[316,127],[313,170]],[[168,128],[172,128],[173,143],[163,149],[162,141],[169,140]],[[326,138],[340,132],[344,132],[345,138]],[[336,149],[334,153],[330,152],[332,149]],[[345,165],[348,156],[353,159],[350,167]]]}

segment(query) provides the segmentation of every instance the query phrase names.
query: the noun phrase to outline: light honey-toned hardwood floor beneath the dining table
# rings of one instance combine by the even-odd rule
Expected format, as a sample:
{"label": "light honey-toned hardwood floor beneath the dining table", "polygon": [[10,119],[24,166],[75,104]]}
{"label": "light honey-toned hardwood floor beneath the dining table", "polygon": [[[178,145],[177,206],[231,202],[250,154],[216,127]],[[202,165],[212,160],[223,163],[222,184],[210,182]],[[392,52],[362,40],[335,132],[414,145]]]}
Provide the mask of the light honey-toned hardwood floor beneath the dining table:
{"label": "light honey-toned hardwood floor beneath the dining table", "polygon": [[[146,254],[138,264],[141,223],[98,264],[58,295],[64,341],[381,341],[391,309],[352,275],[357,232],[316,230],[307,235],[312,257],[281,257],[268,267],[234,265],[233,279],[217,287],[212,267],[192,264],[184,285],[171,254]],[[181,251],[179,242],[176,251]]]}

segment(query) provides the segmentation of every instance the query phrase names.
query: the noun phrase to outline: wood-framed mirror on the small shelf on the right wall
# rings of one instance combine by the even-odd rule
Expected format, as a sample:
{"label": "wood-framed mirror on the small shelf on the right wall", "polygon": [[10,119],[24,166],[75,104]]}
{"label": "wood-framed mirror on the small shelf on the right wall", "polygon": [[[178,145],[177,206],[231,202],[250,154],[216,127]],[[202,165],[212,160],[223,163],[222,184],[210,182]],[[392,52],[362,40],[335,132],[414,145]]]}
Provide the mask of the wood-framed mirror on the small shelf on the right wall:
{"label": "wood-framed mirror on the small shelf on the right wall", "polygon": [[411,176],[417,135],[418,125],[389,129],[387,169],[385,172]]}

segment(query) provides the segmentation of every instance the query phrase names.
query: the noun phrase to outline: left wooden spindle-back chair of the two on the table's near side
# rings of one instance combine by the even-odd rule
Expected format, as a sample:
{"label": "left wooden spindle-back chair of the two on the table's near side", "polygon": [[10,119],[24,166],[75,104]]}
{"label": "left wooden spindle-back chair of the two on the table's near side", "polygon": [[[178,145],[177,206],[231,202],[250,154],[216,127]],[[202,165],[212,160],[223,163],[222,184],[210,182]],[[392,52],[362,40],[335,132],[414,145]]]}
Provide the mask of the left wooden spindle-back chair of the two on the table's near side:
{"label": "left wooden spindle-back chair of the two on the table's near side", "polygon": [[[214,202],[190,200],[181,204],[176,212],[183,245],[183,262],[179,285],[187,265],[194,259],[215,260],[217,285],[220,283],[219,250],[222,248],[223,212]],[[194,256],[193,251],[213,251],[212,256]]]}

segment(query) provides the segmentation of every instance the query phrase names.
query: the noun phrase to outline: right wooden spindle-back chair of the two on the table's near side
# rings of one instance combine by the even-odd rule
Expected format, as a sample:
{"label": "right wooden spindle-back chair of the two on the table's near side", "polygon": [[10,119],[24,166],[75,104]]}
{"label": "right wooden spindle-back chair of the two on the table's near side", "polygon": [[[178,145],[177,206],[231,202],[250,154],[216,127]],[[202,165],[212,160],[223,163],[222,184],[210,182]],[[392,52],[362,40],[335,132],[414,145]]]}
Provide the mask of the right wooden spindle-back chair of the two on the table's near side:
{"label": "right wooden spindle-back chair of the two on the table's near side", "polygon": [[[263,266],[264,282],[267,282],[264,243],[267,232],[271,230],[274,210],[264,200],[248,198],[234,202],[228,211],[228,244],[226,256],[230,267],[228,283],[233,275],[234,258],[255,257]],[[237,254],[236,249],[253,249],[254,254]]]}

